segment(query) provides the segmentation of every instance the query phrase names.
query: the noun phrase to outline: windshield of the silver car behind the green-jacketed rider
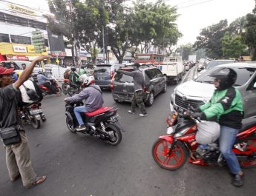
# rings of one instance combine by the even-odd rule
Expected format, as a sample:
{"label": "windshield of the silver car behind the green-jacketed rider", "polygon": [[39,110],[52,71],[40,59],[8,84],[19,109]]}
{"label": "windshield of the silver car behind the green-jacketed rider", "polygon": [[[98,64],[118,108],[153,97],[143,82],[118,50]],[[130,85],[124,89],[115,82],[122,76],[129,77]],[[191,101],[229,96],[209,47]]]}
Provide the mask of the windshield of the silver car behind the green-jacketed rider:
{"label": "windshield of the silver car behind the green-jacketed rider", "polygon": [[[224,67],[214,67],[211,70],[204,72],[194,81],[201,82],[201,83],[209,83],[213,84],[214,78],[210,77],[209,75],[211,72],[215,72],[217,70],[222,70]],[[249,67],[231,67],[235,72],[237,72],[237,81],[234,83],[234,86],[241,86],[249,81],[249,78],[252,77],[256,68],[249,68]]]}

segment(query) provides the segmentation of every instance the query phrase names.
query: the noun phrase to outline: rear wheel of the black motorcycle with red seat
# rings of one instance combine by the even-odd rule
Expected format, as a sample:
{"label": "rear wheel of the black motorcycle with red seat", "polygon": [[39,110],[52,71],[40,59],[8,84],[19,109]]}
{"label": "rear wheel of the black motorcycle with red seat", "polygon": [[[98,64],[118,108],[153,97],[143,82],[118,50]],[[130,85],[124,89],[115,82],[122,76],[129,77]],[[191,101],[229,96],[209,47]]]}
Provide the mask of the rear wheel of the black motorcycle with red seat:
{"label": "rear wheel of the black motorcycle with red seat", "polygon": [[122,141],[122,133],[114,124],[108,124],[105,126],[106,132],[112,135],[111,139],[107,141],[112,146],[117,146]]}

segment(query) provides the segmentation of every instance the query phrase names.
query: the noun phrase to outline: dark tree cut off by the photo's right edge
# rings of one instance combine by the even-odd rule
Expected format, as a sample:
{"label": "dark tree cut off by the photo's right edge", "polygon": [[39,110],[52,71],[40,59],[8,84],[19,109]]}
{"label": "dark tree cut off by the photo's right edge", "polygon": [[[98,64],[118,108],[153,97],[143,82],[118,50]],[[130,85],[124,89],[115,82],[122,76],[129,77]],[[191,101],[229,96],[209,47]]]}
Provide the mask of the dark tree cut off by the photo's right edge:
{"label": "dark tree cut off by the photo's right edge", "polygon": [[[255,7],[256,8],[256,7]],[[256,60],[256,10],[246,15],[246,30],[243,33],[245,43],[252,50],[252,61]]]}

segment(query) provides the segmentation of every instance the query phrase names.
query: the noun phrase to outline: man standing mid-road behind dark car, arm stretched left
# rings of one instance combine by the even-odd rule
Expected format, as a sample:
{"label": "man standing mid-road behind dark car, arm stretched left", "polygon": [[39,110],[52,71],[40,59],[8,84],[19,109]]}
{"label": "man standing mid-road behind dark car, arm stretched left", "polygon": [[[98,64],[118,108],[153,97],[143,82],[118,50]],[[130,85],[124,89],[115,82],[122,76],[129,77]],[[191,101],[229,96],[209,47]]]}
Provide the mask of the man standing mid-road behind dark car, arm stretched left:
{"label": "man standing mid-road behind dark car, arm stretched left", "polygon": [[143,102],[143,89],[145,87],[144,77],[142,71],[139,70],[140,64],[134,64],[134,71],[128,72],[124,70],[116,70],[116,72],[122,72],[125,75],[130,75],[134,78],[134,96],[131,99],[131,110],[128,110],[129,113],[135,114],[136,103],[140,108],[140,116],[147,116],[145,111],[145,105]]}

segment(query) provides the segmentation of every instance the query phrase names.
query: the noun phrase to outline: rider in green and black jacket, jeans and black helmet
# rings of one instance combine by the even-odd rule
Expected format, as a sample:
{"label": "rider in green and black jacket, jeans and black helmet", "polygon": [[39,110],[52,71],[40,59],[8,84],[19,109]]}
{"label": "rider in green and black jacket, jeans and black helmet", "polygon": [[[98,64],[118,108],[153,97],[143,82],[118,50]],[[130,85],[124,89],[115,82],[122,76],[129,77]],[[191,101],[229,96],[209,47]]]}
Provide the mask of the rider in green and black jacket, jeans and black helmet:
{"label": "rider in green and black jacket, jeans and black helmet", "polygon": [[236,155],[232,152],[243,119],[241,94],[238,89],[232,87],[237,80],[237,73],[230,68],[224,68],[212,72],[209,76],[214,78],[214,95],[208,103],[199,108],[200,113],[194,113],[192,117],[217,118],[220,124],[220,152],[233,175],[232,184],[243,186],[243,172]]}

